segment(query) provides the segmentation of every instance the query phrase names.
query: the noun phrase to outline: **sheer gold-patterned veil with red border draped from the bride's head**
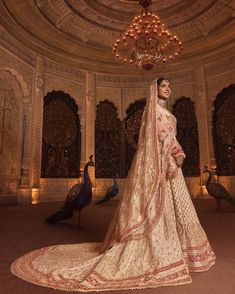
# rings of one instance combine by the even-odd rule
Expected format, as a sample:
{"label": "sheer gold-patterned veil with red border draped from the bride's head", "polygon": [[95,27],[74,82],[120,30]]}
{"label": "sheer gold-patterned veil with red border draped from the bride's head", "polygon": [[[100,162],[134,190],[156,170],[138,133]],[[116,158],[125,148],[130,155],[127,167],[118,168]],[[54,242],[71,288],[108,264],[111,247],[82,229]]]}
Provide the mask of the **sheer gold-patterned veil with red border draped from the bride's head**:
{"label": "sheer gold-patterned veil with red border draped from the bride's head", "polygon": [[165,131],[161,126],[157,98],[158,86],[155,79],[142,116],[138,148],[124,193],[106,234],[103,250],[115,243],[142,238],[151,231],[161,216],[170,150],[162,152],[162,132]]}

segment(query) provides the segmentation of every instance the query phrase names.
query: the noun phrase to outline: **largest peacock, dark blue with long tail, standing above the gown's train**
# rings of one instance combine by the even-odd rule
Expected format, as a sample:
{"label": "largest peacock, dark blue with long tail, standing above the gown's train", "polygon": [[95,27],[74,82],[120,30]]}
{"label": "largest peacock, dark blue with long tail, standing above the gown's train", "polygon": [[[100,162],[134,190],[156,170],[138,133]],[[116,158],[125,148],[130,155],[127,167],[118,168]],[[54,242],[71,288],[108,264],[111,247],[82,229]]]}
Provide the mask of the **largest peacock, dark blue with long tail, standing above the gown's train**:
{"label": "largest peacock, dark blue with long tail, standing above the gown's train", "polygon": [[92,199],[92,184],[88,168],[94,166],[93,156],[86,163],[83,172],[83,183],[74,185],[68,192],[64,206],[46,219],[47,223],[66,220],[74,216],[74,221],[80,227],[81,211]]}

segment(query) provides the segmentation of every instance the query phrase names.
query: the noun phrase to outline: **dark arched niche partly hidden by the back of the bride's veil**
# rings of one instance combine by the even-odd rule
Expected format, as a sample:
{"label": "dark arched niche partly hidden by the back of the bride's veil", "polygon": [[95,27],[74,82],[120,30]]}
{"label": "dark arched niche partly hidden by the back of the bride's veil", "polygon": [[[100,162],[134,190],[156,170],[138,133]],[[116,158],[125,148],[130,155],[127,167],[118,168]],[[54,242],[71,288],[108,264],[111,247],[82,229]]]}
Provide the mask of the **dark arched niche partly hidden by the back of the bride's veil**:
{"label": "dark arched niche partly hidden by the back of the bride's veil", "polygon": [[126,110],[125,129],[126,129],[126,168],[125,176],[131,167],[133,157],[135,155],[138,140],[139,131],[141,125],[141,119],[146,104],[146,98],[139,99],[132,103]]}

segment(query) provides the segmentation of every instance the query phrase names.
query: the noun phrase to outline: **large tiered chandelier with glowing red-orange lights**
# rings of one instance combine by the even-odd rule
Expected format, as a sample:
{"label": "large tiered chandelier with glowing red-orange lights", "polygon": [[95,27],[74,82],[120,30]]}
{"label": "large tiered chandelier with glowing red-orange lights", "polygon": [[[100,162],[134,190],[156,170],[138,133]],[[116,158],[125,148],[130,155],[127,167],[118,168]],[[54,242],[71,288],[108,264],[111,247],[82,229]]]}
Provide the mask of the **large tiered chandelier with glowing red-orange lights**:
{"label": "large tiered chandelier with glowing red-orange lights", "polygon": [[127,30],[117,39],[113,53],[121,63],[150,70],[154,65],[175,59],[182,51],[182,43],[149,10],[151,0],[139,0],[143,9]]}

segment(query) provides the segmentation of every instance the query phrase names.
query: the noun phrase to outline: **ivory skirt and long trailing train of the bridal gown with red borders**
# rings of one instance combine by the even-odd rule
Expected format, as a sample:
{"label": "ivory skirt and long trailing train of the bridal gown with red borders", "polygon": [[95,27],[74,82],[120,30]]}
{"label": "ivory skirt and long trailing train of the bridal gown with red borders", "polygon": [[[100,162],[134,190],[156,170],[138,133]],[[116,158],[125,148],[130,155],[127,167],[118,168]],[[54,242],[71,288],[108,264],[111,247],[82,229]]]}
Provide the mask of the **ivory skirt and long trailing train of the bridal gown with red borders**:
{"label": "ivory skirt and long trailing train of the bridal gown with red borders", "polygon": [[200,226],[184,178],[167,182],[164,211],[150,234],[116,243],[56,245],[16,260],[13,274],[40,285],[68,291],[104,291],[179,285],[189,271],[208,270],[214,253]]}

